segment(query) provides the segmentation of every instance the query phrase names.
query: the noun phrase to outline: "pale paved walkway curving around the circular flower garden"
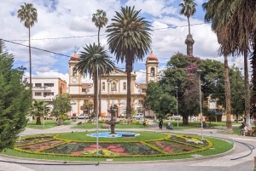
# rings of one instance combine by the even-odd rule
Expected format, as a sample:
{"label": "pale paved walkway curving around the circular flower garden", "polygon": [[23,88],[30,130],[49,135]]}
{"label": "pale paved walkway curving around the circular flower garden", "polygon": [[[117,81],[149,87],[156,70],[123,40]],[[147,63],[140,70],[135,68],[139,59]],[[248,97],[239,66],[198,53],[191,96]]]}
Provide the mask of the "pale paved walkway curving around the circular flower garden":
{"label": "pale paved walkway curving around the circular flower garden", "polygon": [[[86,129],[85,129],[86,130]],[[88,129],[91,130],[91,129]],[[104,130],[105,129],[100,129]],[[116,129],[122,130],[122,129]],[[129,129],[132,131],[139,131],[145,129],[143,128],[134,128]],[[154,131],[154,132],[166,132],[166,133],[185,133],[185,134],[201,134],[200,128],[189,129],[189,130],[160,130],[158,125],[155,123],[150,123],[150,128],[146,129],[147,131]],[[81,129],[71,129],[70,126],[58,126],[55,128],[49,128],[44,130],[35,130],[32,128],[26,128],[26,130],[22,133],[26,134],[47,134],[47,133],[62,133],[62,132],[72,132],[72,131],[84,131]],[[49,162],[37,162],[31,160],[23,160],[20,158],[12,158],[12,157],[3,157],[0,156],[0,160],[4,161],[11,161],[11,162],[37,162],[38,164],[17,164],[17,163],[9,163],[9,162],[0,162],[0,171],[80,171],[80,170],[92,170],[92,171],[253,171],[253,157],[256,157],[256,150],[253,150],[253,153],[249,154],[249,149],[238,143],[236,141],[247,143],[250,145],[256,146],[256,137],[241,137],[239,135],[233,134],[219,134],[218,129],[216,128],[209,128],[204,129],[203,134],[205,136],[216,136],[222,138],[229,138],[235,140],[236,148],[234,151],[230,152],[229,154],[221,157],[210,157],[210,158],[197,158],[193,160],[181,160],[181,161],[150,161],[150,162],[100,162],[99,166],[95,165],[65,165],[62,162],[56,162],[61,165],[44,165],[45,163]],[[236,157],[242,157],[241,159],[231,160]],[[86,160],[86,158],[85,158]],[[53,163],[53,162],[51,162]],[[96,164],[96,162],[86,162],[87,164]]]}

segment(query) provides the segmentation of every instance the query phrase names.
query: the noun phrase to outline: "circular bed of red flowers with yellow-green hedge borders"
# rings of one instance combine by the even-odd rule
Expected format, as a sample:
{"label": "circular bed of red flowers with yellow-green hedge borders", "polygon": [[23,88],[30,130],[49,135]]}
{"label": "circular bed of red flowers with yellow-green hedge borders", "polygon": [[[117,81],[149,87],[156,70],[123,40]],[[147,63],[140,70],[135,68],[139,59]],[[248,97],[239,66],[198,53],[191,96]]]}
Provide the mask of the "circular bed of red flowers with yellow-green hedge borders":
{"label": "circular bed of red flowers with yellow-green hedge borders", "polygon": [[[44,140],[44,142],[42,142]],[[60,140],[55,136],[30,138],[23,144],[15,145],[16,151],[54,156],[73,157],[157,157],[172,156],[205,151],[212,147],[209,140],[186,135],[166,134],[166,138],[158,140],[124,140],[122,142],[100,141],[96,155],[96,143],[86,140]]]}

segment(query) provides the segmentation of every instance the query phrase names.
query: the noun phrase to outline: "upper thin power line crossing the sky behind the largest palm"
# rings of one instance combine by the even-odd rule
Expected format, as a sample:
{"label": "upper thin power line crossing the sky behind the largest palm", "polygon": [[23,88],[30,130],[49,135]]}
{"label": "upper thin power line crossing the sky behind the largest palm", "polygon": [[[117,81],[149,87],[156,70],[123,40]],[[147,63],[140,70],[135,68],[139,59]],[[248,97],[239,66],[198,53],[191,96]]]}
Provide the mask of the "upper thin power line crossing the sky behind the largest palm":
{"label": "upper thin power line crossing the sky behind the largest palm", "polygon": [[[197,26],[197,25],[207,25],[208,23],[197,23],[190,26]],[[188,25],[186,25],[188,26]],[[152,31],[160,31],[165,29],[171,29],[171,28],[181,28],[185,26],[167,26],[166,28],[159,28],[159,29],[152,29]],[[104,36],[108,34],[101,34],[100,36]],[[82,38],[82,37],[97,37],[98,35],[88,35],[88,36],[77,36],[77,37],[51,37],[51,38],[32,38],[31,40],[56,40],[56,39],[67,39],[67,38]],[[9,41],[28,41],[28,40],[9,40]]]}

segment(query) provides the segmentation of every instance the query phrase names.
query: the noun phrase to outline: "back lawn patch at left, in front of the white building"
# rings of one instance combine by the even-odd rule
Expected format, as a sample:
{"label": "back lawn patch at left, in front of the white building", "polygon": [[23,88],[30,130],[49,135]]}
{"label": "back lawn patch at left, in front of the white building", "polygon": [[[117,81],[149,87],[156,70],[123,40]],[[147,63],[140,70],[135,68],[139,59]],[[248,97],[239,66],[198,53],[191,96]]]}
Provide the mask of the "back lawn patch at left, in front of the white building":
{"label": "back lawn patch at left, in front of the white building", "polygon": [[[41,125],[36,125],[36,120],[33,120],[32,123],[27,123],[26,128],[37,128],[37,129],[46,129],[46,128],[53,128],[57,127],[55,124],[55,120],[44,120],[44,125],[43,125],[43,120],[41,120]],[[72,123],[72,120],[66,120],[64,121],[63,125],[69,125]]]}

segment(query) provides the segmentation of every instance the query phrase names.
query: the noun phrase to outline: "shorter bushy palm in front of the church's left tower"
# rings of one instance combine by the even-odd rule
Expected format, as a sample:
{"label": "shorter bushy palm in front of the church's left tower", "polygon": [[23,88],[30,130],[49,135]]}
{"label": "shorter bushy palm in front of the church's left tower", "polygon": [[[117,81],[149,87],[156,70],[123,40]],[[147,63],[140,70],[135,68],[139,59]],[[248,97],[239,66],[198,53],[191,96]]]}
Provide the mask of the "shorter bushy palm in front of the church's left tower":
{"label": "shorter bushy palm in front of the church's left tower", "polygon": [[[108,75],[113,71],[113,62],[108,57],[107,51],[101,45],[96,43],[85,45],[84,51],[81,52],[80,61],[76,65],[78,71],[87,76],[93,77],[94,81],[94,112],[97,111],[98,101],[96,94],[98,92],[97,68],[99,76]],[[95,54],[101,54],[100,56]]]}

